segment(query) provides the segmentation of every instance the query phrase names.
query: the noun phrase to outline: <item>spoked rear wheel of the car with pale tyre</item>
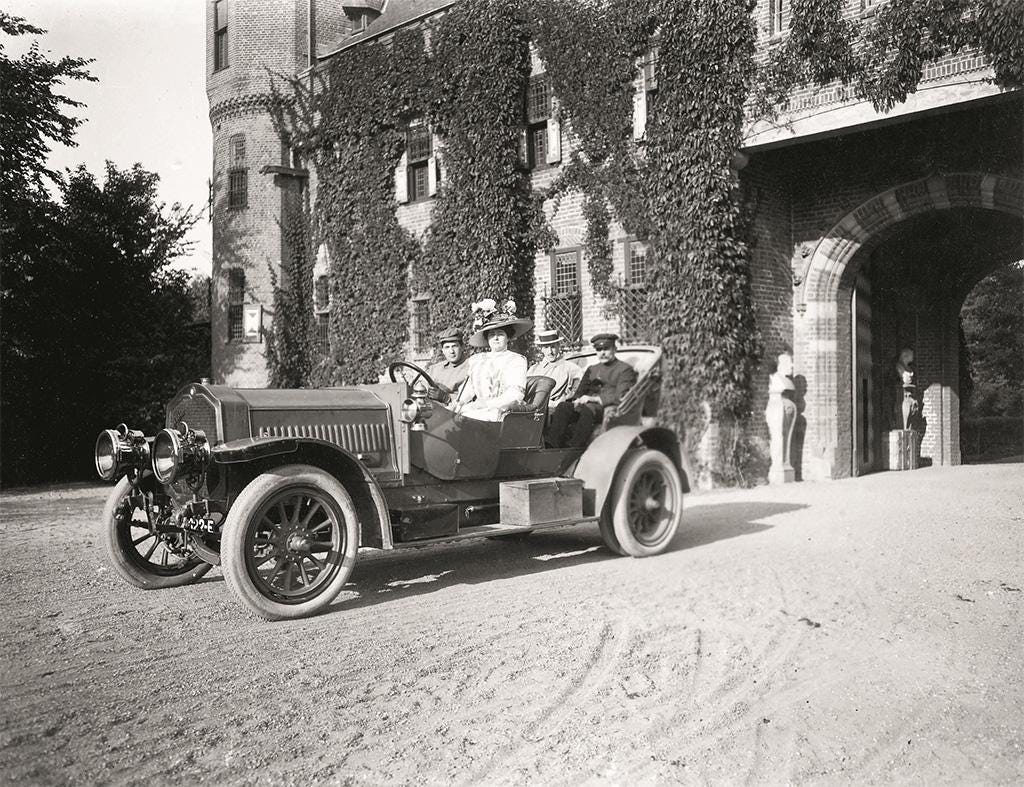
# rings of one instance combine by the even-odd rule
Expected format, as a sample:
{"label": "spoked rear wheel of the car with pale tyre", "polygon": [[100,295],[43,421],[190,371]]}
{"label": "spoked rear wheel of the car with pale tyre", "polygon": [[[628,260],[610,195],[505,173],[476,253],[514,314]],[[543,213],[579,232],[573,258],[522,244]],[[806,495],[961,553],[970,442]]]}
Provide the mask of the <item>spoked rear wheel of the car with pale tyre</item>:
{"label": "spoked rear wheel of the car with pale tyre", "polygon": [[649,448],[627,454],[615,472],[605,516],[602,534],[610,524],[616,552],[635,558],[664,552],[683,520],[683,484],[672,460]]}

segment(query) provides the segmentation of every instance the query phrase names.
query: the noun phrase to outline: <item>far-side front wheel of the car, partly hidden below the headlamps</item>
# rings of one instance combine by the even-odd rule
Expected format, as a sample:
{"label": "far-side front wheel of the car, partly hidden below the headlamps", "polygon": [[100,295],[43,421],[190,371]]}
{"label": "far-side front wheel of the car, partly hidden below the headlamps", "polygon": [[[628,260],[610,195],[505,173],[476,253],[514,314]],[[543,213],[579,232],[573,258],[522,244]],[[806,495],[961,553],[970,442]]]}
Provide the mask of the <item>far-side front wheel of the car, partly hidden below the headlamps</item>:
{"label": "far-side front wheel of the car, partly hidden below the headlamps", "polygon": [[133,490],[125,477],[106,498],[103,540],[111,565],[126,582],[146,591],[195,582],[211,566],[195,555],[183,533],[153,531],[145,508],[152,490],[142,490],[151,485],[145,477]]}

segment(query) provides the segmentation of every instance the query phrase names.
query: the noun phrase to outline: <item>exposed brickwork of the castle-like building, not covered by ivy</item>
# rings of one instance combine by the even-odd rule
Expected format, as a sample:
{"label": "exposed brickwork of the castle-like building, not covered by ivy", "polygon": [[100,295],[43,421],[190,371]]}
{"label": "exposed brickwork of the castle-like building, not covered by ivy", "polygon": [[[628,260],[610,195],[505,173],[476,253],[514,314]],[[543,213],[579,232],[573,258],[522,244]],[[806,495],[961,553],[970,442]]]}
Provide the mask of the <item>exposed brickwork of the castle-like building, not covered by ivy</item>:
{"label": "exposed brickwork of the castle-like building, not covered by ivy", "polygon": [[[270,272],[284,254],[281,219],[302,188],[315,189],[314,176],[310,183],[282,149],[266,115],[270,73],[303,74],[404,25],[429,26],[452,4],[208,3],[218,382],[266,385],[263,330],[272,320]],[[872,5],[848,0],[846,12],[870,14]],[[762,52],[784,35],[787,7],[784,0],[759,1]],[[543,68],[535,58],[535,72]],[[755,209],[753,287],[765,345],[755,413],[764,410],[775,356],[792,353],[798,477],[839,478],[883,467],[883,436],[893,425],[898,393],[893,369],[903,347],[916,354],[922,457],[961,461],[959,308],[984,275],[1022,257],[1021,94],[1000,91],[990,77],[977,53],[963,53],[931,64],[918,91],[888,114],[852,100],[839,86],[800,91],[779,122],[745,129],[750,163],[741,181]],[[641,70],[639,91],[643,80]],[[534,185],[543,187],[572,140],[551,118],[534,120],[547,139],[544,160],[532,162]],[[635,121],[642,132],[642,117]],[[410,177],[407,168],[418,166],[407,152],[396,173],[396,210],[399,222],[422,237],[436,181],[426,170],[421,180]],[[551,224],[558,244],[536,261],[538,323],[554,320],[581,338],[606,330],[645,338],[628,309],[609,308],[593,293],[582,253],[582,199],[566,195]],[[614,223],[609,238],[613,276],[628,299],[641,292],[644,249]],[[411,314],[409,355],[422,359],[415,303]],[[753,430],[756,440],[767,440],[757,414]]]}

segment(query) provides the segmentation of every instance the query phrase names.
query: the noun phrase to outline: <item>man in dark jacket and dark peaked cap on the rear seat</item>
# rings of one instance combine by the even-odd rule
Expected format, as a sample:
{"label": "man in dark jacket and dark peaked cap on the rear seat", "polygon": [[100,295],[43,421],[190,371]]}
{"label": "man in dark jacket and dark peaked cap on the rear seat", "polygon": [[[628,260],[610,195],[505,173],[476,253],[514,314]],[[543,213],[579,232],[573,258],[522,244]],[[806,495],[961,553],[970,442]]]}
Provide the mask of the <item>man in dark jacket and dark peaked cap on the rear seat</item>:
{"label": "man in dark jacket and dark peaked cap on the rear seat", "polygon": [[575,395],[551,413],[548,444],[554,448],[584,448],[594,427],[601,423],[604,408],[618,404],[637,382],[637,373],[615,357],[614,334],[598,334],[590,343],[597,350],[597,362],[587,367]]}

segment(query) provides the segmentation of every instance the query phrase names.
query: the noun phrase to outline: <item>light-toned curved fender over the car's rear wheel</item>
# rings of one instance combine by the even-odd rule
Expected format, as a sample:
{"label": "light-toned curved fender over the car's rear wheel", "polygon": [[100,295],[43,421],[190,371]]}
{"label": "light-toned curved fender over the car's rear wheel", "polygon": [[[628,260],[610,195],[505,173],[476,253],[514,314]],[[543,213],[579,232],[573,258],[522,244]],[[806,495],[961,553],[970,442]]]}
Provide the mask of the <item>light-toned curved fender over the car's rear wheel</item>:
{"label": "light-toned curved fender over the car's rear wheel", "polygon": [[690,490],[683,469],[682,449],[675,432],[664,427],[612,427],[588,446],[572,471],[572,477],[583,481],[585,515],[600,516],[623,457],[628,451],[641,446],[659,450],[672,460],[679,471],[683,491]]}

